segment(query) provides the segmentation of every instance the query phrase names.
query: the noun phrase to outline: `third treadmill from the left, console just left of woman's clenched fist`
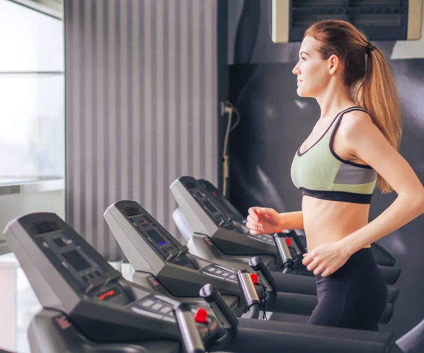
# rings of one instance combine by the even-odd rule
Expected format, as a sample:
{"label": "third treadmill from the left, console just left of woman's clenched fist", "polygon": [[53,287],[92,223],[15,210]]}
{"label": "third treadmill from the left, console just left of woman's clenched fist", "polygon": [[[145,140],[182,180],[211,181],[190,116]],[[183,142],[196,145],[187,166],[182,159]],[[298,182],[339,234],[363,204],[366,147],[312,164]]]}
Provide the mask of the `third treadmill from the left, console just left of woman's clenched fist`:
{"label": "third treadmill from the left, console just left of woman's clenched fist", "polygon": [[[269,234],[252,236],[249,229],[233,216],[234,212],[223,202],[219,202],[219,199],[216,199],[213,193],[208,192],[196,179],[187,176],[178,178],[172,183],[170,190],[181,209],[180,213],[185,216],[188,227],[194,231],[187,244],[192,254],[216,262],[218,262],[216,258],[225,261],[231,257],[231,261],[239,262],[238,266],[241,267],[249,261],[249,257],[260,255],[266,267],[270,270],[280,270],[281,255],[278,253],[273,236]],[[290,236],[296,238],[295,231],[291,231]],[[210,239],[213,246],[206,244],[206,238]],[[271,256],[274,261],[264,258],[263,254]],[[304,267],[301,263],[298,265],[300,268]],[[379,265],[379,269],[387,284],[394,284],[399,279],[401,269],[382,265]],[[313,277],[312,272],[306,269],[300,274]]]}

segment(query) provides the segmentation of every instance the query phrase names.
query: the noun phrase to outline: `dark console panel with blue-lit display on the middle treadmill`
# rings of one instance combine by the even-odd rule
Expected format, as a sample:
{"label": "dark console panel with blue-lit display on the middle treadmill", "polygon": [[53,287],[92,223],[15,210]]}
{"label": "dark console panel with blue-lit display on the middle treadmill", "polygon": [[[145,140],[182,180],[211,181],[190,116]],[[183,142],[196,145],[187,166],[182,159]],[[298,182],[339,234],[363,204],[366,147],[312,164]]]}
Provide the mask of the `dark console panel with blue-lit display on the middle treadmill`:
{"label": "dark console panel with blue-lit display on the middle treadmill", "polygon": [[152,248],[156,250],[156,253],[158,253],[164,260],[174,265],[197,270],[187,255],[182,253],[179,245],[167,237],[165,232],[156,226],[156,222],[153,221],[150,216],[147,214],[132,216],[129,218],[129,221],[131,221],[131,223],[139,230],[143,238],[151,244]]}

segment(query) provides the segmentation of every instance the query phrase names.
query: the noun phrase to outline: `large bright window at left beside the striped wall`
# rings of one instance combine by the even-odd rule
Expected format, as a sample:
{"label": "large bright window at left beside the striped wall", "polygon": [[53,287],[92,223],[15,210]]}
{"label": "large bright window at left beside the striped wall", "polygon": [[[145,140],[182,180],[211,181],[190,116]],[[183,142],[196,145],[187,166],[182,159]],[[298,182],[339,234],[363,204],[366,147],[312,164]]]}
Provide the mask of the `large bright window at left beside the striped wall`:
{"label": "large bright window at left beside the striped wall", "polygon": [[0,184],[64,177],[63,22],[0,0]]}

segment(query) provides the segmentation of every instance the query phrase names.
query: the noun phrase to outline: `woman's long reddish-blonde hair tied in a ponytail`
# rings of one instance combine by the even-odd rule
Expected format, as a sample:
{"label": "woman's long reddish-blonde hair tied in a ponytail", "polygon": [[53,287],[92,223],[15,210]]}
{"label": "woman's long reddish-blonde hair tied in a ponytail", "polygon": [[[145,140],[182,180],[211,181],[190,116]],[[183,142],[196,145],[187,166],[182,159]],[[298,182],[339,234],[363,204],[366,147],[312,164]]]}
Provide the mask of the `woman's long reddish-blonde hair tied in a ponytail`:
{"label": "woman's long reddish-blonde hair tied in a ponytail", "polygon": [[[401,108],[396,82],[382,51],[346,21],[313,23],[305,32],[307,36],[319,42],[318,51],[323,59],[335,54],[341,60],[353,101],[367,110],[389,144],[398,150],[402,134]],[[377,175],[377,185],[382,193],[391,192],[389,183],[381,175]]]}

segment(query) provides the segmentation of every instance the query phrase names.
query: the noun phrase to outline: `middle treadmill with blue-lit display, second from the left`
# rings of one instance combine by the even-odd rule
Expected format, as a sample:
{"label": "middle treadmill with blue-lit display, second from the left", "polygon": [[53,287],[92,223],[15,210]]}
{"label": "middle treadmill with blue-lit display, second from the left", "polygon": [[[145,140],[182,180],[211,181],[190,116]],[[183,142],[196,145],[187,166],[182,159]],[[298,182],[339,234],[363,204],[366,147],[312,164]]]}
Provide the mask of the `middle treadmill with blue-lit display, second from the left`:
{"label": "middle treadmill with blue-lit display, second from the left", "polygon": [[[169,294],[178,298],[197,296],[199,289],[210,282],[220,294],[228,296],[227,303],[235,315],[240,316],[247,310],[245,301],[242,300],[243,286],[237,277],[237,270],[189,253],[188,248],[180,244],[139,203],[131,200],[115,202],[106,209],[104,217],[135,270],[131,278],[133,282],[139,283],[146,276],[153,274]],[[251,267],[252,272],[253,270]],[[262,274],[261,280],[264,280],[263,272],[263,268],[258,272]],[[255,300],[257,303],[262,303],[263,308],[266,306],[266,311],[292,315],[280,316],[280,320],[306,323],[307,316],[310,316],[317,306],[316,289],[314,294],[302,294],[304,290],[302,281],[292,283],[292,279],[305,278],[307,282],[312,280],[315,286],[314,279],[293,274],[282,275],[283,277],[278,280],[280,284],[278,288],[275,282],[273,288],[269,287],[267,292],[264,288],[258,287],[253,294],[257,294]],[[297,287],[297,291],[286,292],[285,288],[290,287]],[[380,323],[389,322],[393,311],[394,306],[389,303]],[[249,317],[252,317],[250,315],[254,316],[254,313],[249,312]]]}

